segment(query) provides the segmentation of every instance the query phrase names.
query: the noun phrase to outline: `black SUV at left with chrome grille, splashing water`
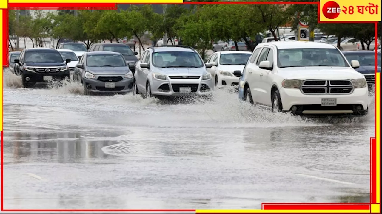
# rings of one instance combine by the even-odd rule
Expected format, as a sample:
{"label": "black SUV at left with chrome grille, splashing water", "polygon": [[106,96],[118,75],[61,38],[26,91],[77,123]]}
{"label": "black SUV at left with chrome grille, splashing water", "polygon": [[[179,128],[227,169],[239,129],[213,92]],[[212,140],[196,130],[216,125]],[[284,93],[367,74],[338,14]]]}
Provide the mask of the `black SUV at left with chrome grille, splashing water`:
{"label": "black SUV at left with chrome grille, splashing water", "polygon": [[66,65],[70,59],[64,60],[60,52],[55,49],[26,49],[21,51],[19,58],[13,62],[15,62],[15,73],[21,76],[24,87],[70,78]]}

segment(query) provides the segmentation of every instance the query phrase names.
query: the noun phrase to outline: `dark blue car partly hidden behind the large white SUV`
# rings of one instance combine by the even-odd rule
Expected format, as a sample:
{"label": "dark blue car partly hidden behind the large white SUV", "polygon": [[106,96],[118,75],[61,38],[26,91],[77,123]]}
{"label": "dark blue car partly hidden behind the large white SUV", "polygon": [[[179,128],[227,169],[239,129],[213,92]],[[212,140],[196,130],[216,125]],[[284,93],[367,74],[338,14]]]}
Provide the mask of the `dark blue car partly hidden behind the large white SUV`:
{"label": "dark blue car partly hidden behind the large white SUV", "polygon": [[[369,86],[369,91],[373,88],[376,82],[376,53],[374,51],[344,51],[348,62],[357,60],[359,62],[359,68],[356,69],[359,73],[362,73]],[[381,71],[381,54],[377,54],[377,72]]]}

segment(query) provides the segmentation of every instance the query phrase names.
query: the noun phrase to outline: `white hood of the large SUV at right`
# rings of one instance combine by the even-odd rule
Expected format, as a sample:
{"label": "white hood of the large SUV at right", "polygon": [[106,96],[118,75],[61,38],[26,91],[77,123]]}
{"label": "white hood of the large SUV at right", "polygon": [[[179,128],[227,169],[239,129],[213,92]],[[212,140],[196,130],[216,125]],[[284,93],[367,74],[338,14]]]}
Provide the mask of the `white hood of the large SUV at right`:
{"label": "white hood of the large SUV at right", "polygon": [[278,75],[285,79],[358,79],[364,78],[361,73],[351,67],[290,67],[280,68]]}

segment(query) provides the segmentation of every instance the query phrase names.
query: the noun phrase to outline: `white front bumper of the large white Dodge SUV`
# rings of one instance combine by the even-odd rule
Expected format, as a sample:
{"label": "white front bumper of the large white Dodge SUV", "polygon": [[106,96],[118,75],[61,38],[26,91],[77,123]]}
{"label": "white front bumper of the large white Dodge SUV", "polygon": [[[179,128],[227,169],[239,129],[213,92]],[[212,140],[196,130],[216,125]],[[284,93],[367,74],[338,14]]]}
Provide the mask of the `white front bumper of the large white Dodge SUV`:
{"label": "white front bumper of the large white Dodge SUV", "polygon": [[[364,115],[369,105],[368,89],[356,88],[351,94],[306,95],[299,89],[280,89],[280,97],[284,111],[292,111],[296,115]],[[336,98],[336,106],[321,106],[322,98]],[[296,107],[293,110],[292,107]],[[357,109],[361,107],[361,109]]]}

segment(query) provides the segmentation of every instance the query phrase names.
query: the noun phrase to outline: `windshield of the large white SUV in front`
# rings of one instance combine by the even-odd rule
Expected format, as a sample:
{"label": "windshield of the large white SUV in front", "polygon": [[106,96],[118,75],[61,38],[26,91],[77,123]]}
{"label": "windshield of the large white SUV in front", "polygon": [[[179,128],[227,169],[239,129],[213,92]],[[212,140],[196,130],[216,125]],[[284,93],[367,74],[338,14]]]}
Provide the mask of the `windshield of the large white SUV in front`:
{"label": "windshield of the large white SUV in front", "polygon": [[334,48],[291,48],[277,51],[277,65],[283,67],[349,67],[340,51]]}

